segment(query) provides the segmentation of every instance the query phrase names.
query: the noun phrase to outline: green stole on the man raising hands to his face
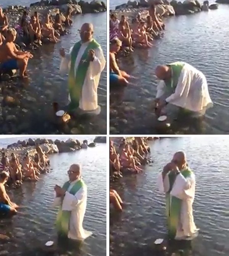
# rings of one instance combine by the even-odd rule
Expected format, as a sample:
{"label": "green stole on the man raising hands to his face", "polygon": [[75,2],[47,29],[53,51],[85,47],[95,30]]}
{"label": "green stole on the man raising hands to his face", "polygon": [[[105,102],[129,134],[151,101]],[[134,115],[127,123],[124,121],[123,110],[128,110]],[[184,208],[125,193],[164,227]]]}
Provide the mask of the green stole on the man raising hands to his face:
{"label": "green stole on the man raising hands to his face", "polygon": [[[181,171],[181,174],[185,177],[190,177],[193,172],[186,167]],[[166,217],[167,217],[167,226],[168,226],[168,235],[169,238],[175,238],[177,225],[181,215],[181,204],[182,200],[170,195],[171,190],[173,189],[173,184],[176,179],[176,175],[172,172],[169,172],[169,191],[166,193]]]}

